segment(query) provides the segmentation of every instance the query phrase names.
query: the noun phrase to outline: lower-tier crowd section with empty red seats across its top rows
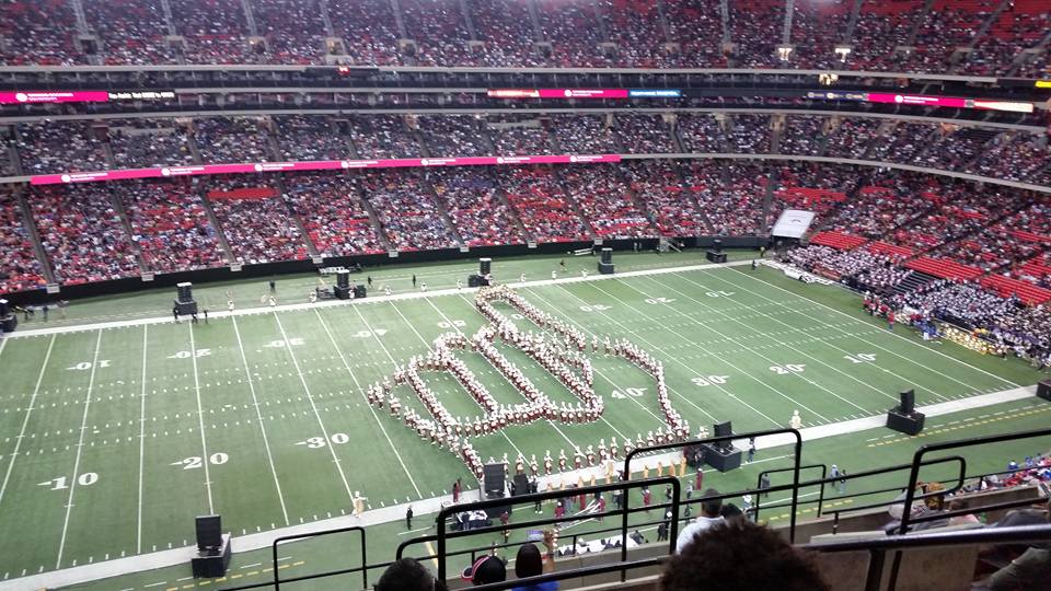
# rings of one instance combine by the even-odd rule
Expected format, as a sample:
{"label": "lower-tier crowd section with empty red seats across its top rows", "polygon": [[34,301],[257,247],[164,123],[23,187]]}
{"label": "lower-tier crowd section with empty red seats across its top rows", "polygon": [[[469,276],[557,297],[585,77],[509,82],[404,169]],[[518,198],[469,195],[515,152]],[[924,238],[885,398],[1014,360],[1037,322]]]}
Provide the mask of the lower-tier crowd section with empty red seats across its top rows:
{"label": "lower-tier crowd section with empty red seats across its top rows", "polygon": [[213,176],[205,189],[236,262],[255,265],[308,257],[288,204],[265,179]]}

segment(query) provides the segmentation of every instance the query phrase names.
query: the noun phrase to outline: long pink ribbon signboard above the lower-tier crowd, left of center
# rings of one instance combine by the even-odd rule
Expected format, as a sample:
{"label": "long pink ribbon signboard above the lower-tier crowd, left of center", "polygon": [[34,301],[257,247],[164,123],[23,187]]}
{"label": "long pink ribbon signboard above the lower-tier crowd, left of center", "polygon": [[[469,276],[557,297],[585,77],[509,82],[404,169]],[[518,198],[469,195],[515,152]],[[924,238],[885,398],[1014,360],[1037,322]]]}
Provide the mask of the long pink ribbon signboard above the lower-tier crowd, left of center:
{"label": "long pink ribbon signboard above the lower-tier crowd, left of center", "polygon": [[161,169],[128,169],[118,171],[41,174],[30,177],[32,185],[66,183],[97,183],[130,178],[161,178],[199,176],[208,174],[250,174],[272,172],[331,171],[349,169],[405,169],[413,166],[513,166],[521,164],[591,164],[620,162],[620,154],[566,154],[518,157],[425,158],[393,160],[314,160],[305,162],[256,162],[244,164],[203,164],[197,166],[165,166]]}

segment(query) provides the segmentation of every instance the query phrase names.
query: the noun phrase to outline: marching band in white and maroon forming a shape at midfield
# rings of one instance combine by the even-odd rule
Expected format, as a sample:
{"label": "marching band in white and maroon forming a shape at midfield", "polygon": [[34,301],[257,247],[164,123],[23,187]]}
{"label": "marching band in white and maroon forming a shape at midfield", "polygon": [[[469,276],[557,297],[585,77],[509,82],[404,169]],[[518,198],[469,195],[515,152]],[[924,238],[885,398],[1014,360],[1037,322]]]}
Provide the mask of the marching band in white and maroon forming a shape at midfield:
{"label": "marching band in white and maroon forming a shape at midfield", "polygon": [[[498,301],[510,305],[522,317],[548,331],[553,336],[519,329],[508,317],[497,311],[494,303]],[[493,323],[492,325],[481,328],[471,337],[460,333],[446,333],[439,336],[435,340],[434,348],[426,355],[413,356],[405,367],[395,367],[393,380],[385,378],[381,382],[369,385],[366,396],[369,404],[378,408],[386,408],[393,416],[400,416],[405,425],[424,440],[459,455],[472,473],[482,477],[484,463],[471,443],[472,437],[494,433],[508,425],[527,425],[536,420],[565,424],[591,422],[602,416],[605,405],[602,396],[594,393],[593,371],[591,361],[587,358],[588,339],[584,333],[541,311],[507,286],[482,288],[475,298],[475,306],[486,320]],[[497,347],[498,341],[528,355],[556,376],[580,402],[556,405],[518,366],[504,357]],[[592,338],[590,345],[591,352],[598,354],[600,348],[598,337]],[[454,351],[464,350],[482,355],[528,402],[515,405],[497,403],[466,363],[454,356]],[[535,476],[543,470],[543,474],[550,475],[556,466],[559,471],[594,466],[617,459],[622,449],[627,454],[633,449],[644,445],[684,441],[690,438],[689,424],[671,407],[665,383],[665,369],[660,361],[626,339],[611,341],[607,337],[602,343],[602,352],[607,356],[623,358],[654,378],[657,382],[658,404],[663,412],[667,428],[661,427],[656,433],[649,431],[645,438],[638,433],[634,441],[625,438],[623,448],[617,444],[616,438],[611,438],[609,447],[605,444],[605,439],[600,440],[598,450],[592,445],[588,445],[582,451],[579,447],[575,447],[571,462],[566,456],[565,450],[558,451],[557,459],[553,459],[547,451],[542,462],[538,462],[535,455],[527,460],[519,454],[515,461],[516,473],[524,474],[528,471]],[[424,381],[420,375],[423,371],[452,374],[485,409],[485,414],[473,418],[452,416]],[[421,416],[412,408],[403,409],[402,402],[394,393],[395,386],[399,385],[408,385],[413,389],[431,418]],[[504,462],[507,466],[506,456]]]}

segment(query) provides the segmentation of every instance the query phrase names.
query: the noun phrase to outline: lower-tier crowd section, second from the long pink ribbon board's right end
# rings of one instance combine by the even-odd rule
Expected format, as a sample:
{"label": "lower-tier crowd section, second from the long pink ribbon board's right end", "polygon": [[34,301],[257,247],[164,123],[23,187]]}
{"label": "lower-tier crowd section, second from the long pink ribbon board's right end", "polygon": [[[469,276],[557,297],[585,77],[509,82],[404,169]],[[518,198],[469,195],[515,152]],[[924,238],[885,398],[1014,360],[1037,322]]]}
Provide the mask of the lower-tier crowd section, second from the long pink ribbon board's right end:
{"label": "lower-tier crowd section, second from the long pink ribbon board's right end", "polygon": [[562,242],[590,237],[553,170],[516,167],[501,174],[499,181],[500,188],[533,240]]}

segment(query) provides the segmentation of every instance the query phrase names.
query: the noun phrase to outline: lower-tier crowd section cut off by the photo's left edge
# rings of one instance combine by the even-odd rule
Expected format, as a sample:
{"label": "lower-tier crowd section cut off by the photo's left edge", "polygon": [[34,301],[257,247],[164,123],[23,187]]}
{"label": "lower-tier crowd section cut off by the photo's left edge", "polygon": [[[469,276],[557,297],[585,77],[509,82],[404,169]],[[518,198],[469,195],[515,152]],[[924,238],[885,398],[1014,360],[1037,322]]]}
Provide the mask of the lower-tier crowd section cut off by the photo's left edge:
{"label": "lower-tier crowd section cut off by the photo's left edge", "polygon": [[15,195],[0,188],[0,293],[44,287],[44,269],[22,219]]}

